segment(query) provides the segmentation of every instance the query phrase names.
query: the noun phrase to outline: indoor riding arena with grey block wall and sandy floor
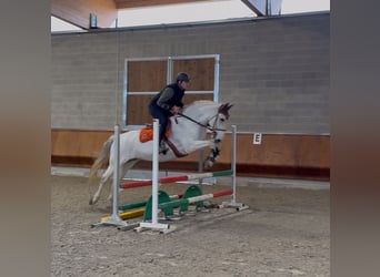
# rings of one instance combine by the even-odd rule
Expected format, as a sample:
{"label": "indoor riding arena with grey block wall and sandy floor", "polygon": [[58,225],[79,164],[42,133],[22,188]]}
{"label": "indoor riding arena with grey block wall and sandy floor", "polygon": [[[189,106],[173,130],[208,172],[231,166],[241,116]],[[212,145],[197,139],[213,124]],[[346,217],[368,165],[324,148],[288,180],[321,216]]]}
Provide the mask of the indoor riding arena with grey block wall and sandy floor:
{"label": "indoor riding arena with grey block wall and sandy floor", "polygon": [[[101,14],[51,35],[51,276],[330,276],[330,13],[133,28]],[[213,166],[210,147],[158,171],[138,161],[89,205],[104,142],[152,124],[149,101],[179,72],[186,105],[232,105]]]}

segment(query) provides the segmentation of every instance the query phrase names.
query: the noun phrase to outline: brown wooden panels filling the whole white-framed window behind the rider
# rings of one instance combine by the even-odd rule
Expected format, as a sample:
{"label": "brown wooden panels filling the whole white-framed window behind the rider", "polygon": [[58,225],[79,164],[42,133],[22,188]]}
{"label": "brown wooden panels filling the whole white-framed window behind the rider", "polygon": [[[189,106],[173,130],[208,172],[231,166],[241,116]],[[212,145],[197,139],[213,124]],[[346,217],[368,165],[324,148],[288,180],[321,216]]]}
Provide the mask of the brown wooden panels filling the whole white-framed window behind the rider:
{"label": "brown wooden panels filling the whole white-framed window behind the rider", "polygon": [[[127,126],[151,123],[148,105],[152,96],[167,84],[167,60],[128,61]],[[173,60],[173,80],[181,71],[188,72],[194,80],[183,98],[184,104],[196,100],[213,100],[211,93],[189,92],[213,91],[214,59]]]}

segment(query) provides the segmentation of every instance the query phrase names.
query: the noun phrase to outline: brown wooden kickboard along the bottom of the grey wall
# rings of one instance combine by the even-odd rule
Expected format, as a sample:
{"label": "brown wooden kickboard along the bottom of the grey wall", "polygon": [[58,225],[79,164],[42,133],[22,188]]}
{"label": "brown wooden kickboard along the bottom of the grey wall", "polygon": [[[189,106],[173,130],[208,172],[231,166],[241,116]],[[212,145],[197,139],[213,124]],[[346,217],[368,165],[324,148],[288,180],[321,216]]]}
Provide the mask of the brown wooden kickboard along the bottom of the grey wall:
{"label": "brown wooden kickboard along the bottom of the grey wall", "polygon": [[[53,165],[90,166],[111,131],[51,131]],[[252,144],[252,134],[238,134],[237,174],[239,176],[329,179],[330,136],[263,134],[262,144]],[[226,135],[212,171],[230,168],[231,136]],[[209,150],[203,151],[206,157]],[[162,171],[198,171],[198,153],[160,164]],[[140,162],[137,168],[150,168]]]}

